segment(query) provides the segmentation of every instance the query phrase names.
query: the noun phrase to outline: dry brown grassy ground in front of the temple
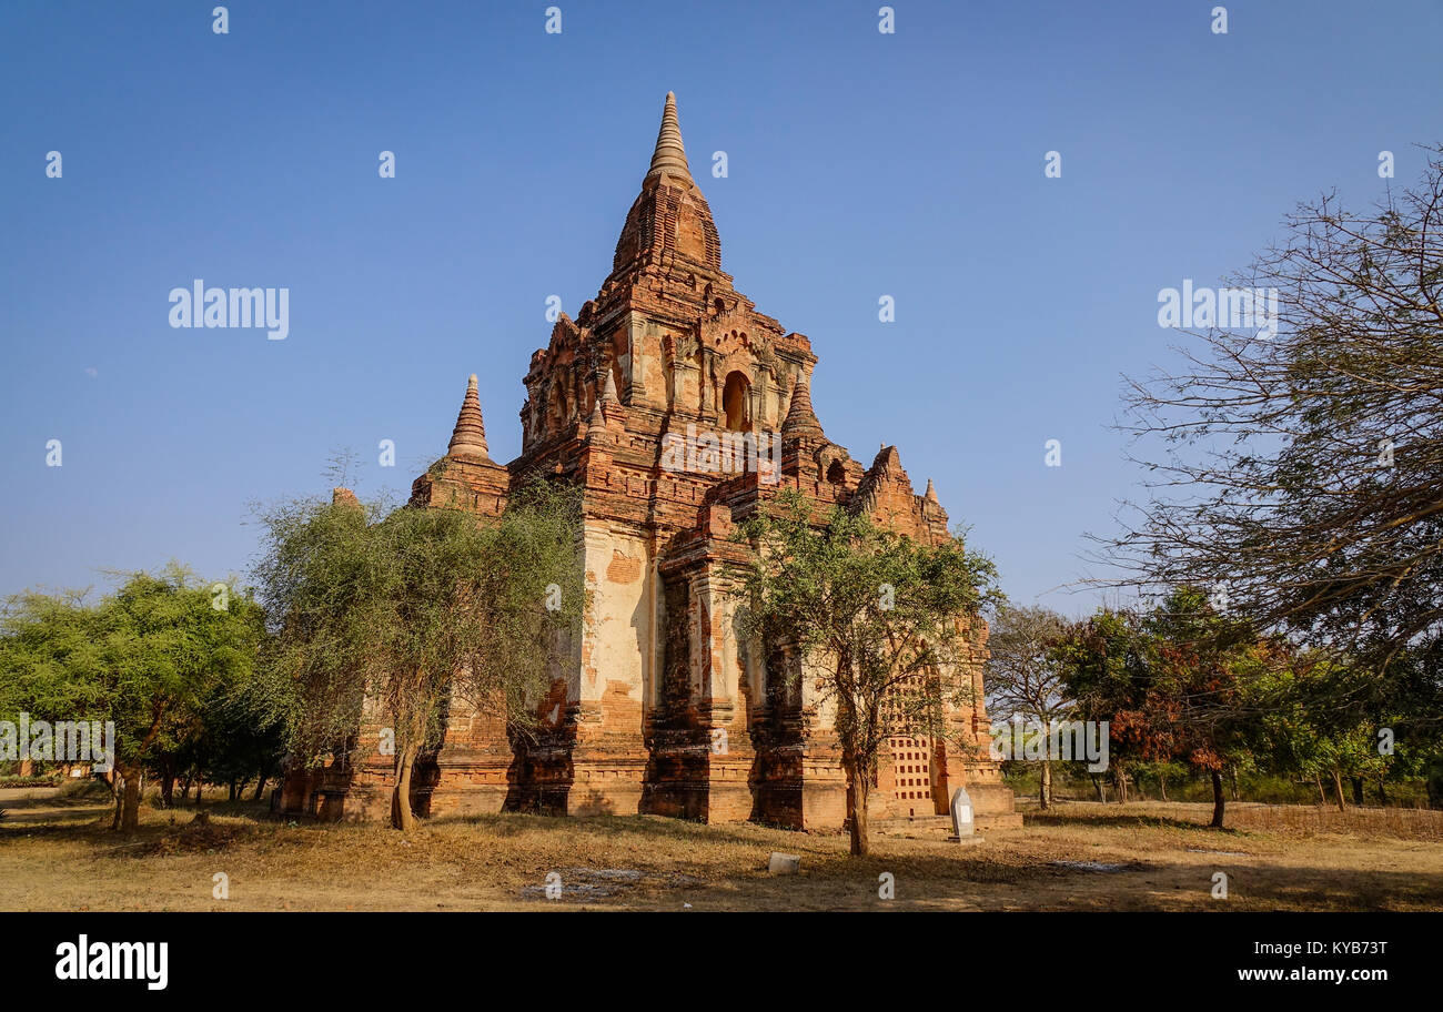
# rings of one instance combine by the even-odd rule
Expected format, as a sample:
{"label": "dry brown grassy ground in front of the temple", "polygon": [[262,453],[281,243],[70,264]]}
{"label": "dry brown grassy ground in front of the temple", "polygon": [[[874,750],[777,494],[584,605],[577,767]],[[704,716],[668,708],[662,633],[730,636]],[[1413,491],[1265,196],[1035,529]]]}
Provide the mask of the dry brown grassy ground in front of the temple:
{"label": "dry brown grassy ground in front of the temple", "polygon": [[[126,842],[95,800],[0,791],[0,910],[1443,910],[1443,812],[1244,803],[1214,832],[1203,804],[1072,802],[971,846],[885,825],[853,859],[840,833],[651,816],[437,819],[403,838],[250,804],[206,803],[208,826],[143,806]],[[801,855],[801,875],[768,875],[772,851]],[[895,900],[877,897],[883,872]]]}

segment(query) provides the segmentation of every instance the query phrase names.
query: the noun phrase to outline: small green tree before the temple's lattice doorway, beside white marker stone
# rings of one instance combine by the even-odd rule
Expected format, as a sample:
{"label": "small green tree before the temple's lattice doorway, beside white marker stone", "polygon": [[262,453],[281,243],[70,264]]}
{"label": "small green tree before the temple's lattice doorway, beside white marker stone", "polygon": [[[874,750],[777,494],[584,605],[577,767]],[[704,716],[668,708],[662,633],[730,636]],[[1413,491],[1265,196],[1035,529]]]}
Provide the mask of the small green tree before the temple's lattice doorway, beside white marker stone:
{"label": "small green tree before the temple's lattice doorway, beside white marker stone", "polygon": [[851,853],[864,855],[883,742],[939,737],[944,703],[971,702],[965,665],[996,569],[960,538],[922,545],[841,507],[814,522],[795,490],[737,536],[755,549],[740,587],[746,634],[794,659],[784,678],[814,679],[820,702],[835,703]]}

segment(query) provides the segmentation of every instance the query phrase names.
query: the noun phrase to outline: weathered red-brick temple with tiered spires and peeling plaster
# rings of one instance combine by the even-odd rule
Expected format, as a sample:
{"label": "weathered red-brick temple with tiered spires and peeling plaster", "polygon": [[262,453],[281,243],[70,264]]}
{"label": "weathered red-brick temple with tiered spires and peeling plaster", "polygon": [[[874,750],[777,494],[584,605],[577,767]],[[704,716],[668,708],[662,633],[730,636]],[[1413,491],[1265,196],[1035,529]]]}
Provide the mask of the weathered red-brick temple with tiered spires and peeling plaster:
{"label": "weathered red-brick temple with tiered spires and peeling plaster", "polygon": [[[808,394],[815,365],[811,342],[759,313],[722,270],[668,94],[610,274],[531,356],[521,456],[491,458],[472,376],[446,456],[411,486],[411,506],[495,516],[512,483],[538,469],[576,481],[593,595],[564,678],[540,706],[540,737],[512,741],[504,722],[453,701],[443,744],[417,767],[417,812],[843,825],[828,708],[805,679],[788,683],[742,649],[730,591],[746,548],[732,541],[733,523],[782,489],[799,489],[818,512],[841,503],[929,542],[948,536],[948,518],[931,481],[913,492],[896,447],[863,463],[827,438]],[[668,441],[698,432],[752,434],[773,458],[758,454],[740,473],[668,466]],[[978,816],[1013,810],[986,750],[984,659],[978,647],[968,660],[977,702],[945,714],[944,738],[890,740],[874,817],[945,815],[960,786]],[[354,768],[293,771],[277,804],[387,817],[392,761],[377,754],[375,735],[362,728]]]}

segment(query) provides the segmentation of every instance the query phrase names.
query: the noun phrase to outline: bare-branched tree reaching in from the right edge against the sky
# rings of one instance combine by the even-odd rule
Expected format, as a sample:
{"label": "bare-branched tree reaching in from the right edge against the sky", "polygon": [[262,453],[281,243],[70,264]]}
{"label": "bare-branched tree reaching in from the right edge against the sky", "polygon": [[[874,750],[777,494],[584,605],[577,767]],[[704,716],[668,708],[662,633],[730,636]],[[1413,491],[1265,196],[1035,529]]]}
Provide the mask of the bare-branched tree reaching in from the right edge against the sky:
{"label": "bare-branched tree reaching in from the right edge against the sky", "polygon": [[1303,203],[1231,278],[1276,290],[1276,334],[1188,332],[1182,368],[1130,382],[1150,479],[1101,542],[1118,584],[1208,588],[1374,672],[1443,650],[1443,147],[1424,150],[1416,189],[1364,215]]}

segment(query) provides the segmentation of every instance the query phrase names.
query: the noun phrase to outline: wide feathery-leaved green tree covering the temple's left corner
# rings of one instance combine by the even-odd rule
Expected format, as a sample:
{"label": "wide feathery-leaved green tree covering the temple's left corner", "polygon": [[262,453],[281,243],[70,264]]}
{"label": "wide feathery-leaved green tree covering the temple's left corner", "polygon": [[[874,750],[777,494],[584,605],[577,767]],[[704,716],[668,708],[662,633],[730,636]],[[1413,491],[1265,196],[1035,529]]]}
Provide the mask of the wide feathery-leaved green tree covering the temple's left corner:
{"label": "wide feathery-leaved green tree covering the temple's left corner", "polygon": [[579,499],[538,481],[491,522],[345,499],[294,500],[263,519],[267,695],[291,753],[315,763],[348,751],[374,705],[395,742],[392,822],[410,830],[416,758],[452,695],[534,725],[584,614]]}

